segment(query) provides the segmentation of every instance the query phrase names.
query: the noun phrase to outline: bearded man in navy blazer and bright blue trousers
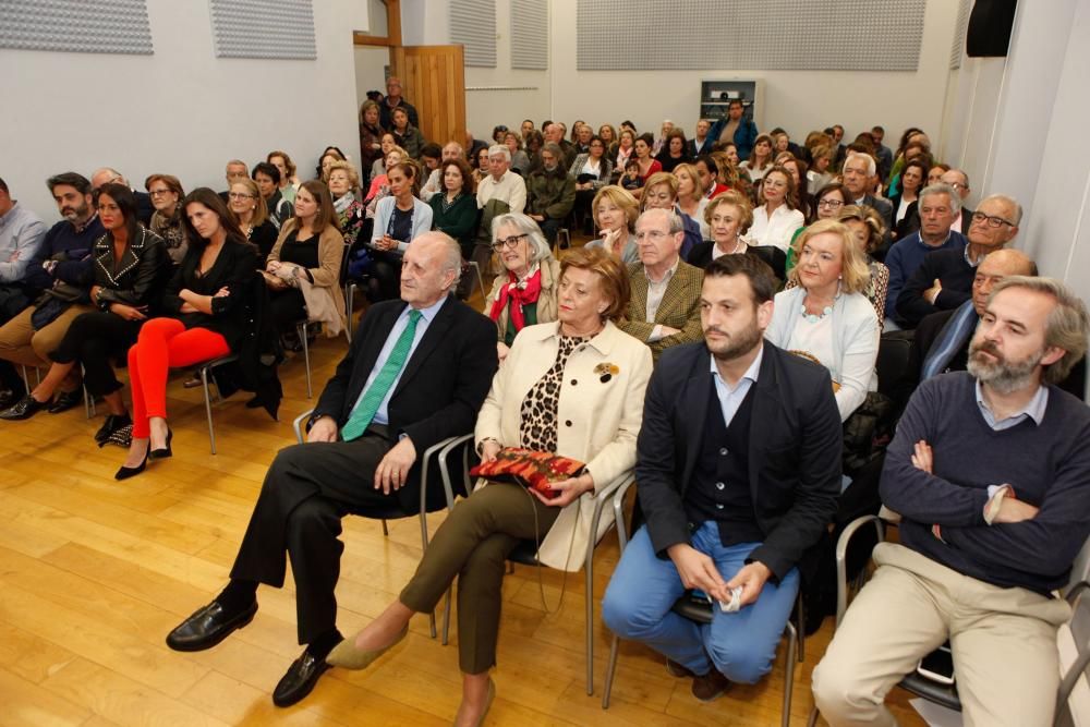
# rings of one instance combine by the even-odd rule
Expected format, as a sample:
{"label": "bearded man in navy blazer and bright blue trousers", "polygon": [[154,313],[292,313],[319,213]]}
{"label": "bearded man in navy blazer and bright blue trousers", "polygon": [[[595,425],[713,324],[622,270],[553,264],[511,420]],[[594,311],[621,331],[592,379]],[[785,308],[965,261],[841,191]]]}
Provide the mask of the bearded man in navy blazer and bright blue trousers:
{"label": "bearded man in navy blazer and bright blue trousers", "polygon": [[[840,492],[828,372],[763,340],[775,292],[749,255],[705,268],[704,341],[666,351],[647,387],[635,465],[647,524],[602,606],[614,632],[693,677],[702,701],[772,668]],[[687,589],[739,608],[701,626],[670,610]]]}

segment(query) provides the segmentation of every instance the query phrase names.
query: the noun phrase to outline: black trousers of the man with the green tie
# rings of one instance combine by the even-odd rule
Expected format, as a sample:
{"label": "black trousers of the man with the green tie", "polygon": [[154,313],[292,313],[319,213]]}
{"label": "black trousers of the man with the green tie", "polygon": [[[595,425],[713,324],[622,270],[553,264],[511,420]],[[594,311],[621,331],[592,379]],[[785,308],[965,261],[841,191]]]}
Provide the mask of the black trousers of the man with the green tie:
{"label": "black trousers of the man with the green tie", "polygon": [[337,628],[341,518],[398,506],[395,494],[372,486],[392,445],[385,427],[354,441],[294,445],[280,450],[265,475],[231,578],[281,587],[290,557],[301,644]]}

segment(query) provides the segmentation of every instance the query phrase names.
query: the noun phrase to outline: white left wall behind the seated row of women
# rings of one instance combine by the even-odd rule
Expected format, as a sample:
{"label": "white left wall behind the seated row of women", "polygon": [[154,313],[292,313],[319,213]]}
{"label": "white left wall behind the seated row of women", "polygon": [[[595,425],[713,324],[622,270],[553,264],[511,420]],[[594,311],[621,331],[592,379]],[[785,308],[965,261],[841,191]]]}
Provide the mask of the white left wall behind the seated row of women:
{"label": "white left wall behind the seated row of women", "polygon": [[305,178],[327,144],[359,156],[352,31],[367,28],[366,3],[314,3],[314,61],[216,58],[206,2],[147,5],[153,56],[0,50],[0,177],[43,218],[59,219],[45,180],[61,171],[219,190],[232,157],[283,148]]}

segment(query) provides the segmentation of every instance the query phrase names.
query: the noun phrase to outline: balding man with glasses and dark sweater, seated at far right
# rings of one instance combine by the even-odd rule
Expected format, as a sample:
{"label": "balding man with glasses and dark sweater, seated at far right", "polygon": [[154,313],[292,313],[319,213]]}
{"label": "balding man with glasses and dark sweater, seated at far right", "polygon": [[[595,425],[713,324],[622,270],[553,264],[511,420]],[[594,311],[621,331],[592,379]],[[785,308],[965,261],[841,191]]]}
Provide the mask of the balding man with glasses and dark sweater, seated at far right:
{"label": "balding man with glasses and dark sweater, seated at far right", "polygon": [[1013,198],[984,197],[972,214],[964,250],[928,254],[897,296],[897,323],[916,328],[936,311],[958,307],[972,295],[977,266],[989,253],[1002,250],[1018,234],[1022,209]]}

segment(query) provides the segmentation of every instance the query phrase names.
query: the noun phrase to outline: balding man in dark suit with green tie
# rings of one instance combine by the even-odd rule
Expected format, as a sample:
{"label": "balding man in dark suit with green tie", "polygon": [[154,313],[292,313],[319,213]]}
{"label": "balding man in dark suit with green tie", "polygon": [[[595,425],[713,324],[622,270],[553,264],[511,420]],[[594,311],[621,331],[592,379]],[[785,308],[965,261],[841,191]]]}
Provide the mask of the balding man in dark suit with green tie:
{"label": "balding man in dark suit with green tie", "polygon": [[[419,456],[473,431],[496,372],[496,327],[449,295],[461,251],[428,232],[405,251],[401,300],[373,305],[326,385],[307,444],[281,450],[269,468],[231,569],[231,581],[167,637],[178,651],[216,645],[257,611],[257,585],[295,578],[299,643],[306,649],[272,692],[288,706],[311,692],[342,640],[334,587],[352,510],[420,502]],[[286,557],[287,556],[287,557]]]}

